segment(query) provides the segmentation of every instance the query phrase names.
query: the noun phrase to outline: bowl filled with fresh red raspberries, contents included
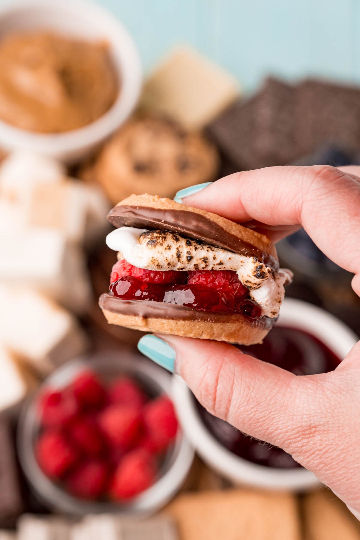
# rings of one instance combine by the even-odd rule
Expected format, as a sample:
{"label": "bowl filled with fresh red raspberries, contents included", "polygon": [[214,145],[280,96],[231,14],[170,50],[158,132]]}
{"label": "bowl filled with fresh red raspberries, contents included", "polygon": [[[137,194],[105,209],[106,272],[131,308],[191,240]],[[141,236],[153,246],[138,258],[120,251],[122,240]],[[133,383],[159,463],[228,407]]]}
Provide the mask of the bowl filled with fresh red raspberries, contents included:
{"label": "bowl filled with fresh red raspberries, contents included", "polygon": [[171,376],[138,355],[106,352],[58,368],[18,426],[38,497],[73,515],[151,514],[166,504],[194,456],[170,392]]}

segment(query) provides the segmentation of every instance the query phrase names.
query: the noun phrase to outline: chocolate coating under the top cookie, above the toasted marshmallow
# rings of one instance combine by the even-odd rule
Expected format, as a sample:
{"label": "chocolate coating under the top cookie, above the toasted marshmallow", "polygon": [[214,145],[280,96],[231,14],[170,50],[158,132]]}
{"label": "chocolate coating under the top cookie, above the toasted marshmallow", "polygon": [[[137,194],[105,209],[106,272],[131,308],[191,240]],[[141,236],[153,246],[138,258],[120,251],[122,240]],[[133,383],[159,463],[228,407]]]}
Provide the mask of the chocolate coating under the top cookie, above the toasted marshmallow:
{"label": "chocolate coating under the top cookie, above the toasted marshmallow", "polygon": [[215,221],[188,210],[159,210],[147,206],[115,206],[107,215],[115,227],[162,229],[201,240],[210,246],[221,247],[247,257],[256,257],[270,268],[279,268],[279,262],[268,253],[229,233]]}

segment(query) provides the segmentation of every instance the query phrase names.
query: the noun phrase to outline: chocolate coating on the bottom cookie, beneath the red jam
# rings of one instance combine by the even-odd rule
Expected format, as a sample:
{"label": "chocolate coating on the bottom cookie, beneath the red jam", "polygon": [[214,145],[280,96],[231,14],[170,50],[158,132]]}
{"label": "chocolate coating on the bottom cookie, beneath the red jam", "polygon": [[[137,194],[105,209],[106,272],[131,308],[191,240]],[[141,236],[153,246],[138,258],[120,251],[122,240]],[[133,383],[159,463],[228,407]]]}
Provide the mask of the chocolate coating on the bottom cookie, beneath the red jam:
{"label": "chocolate coating on the bottom cookie, beneath the red jam", "polygon": [[[153,302],[152,300],[122,300],[112,294],[104,293],[99,298],[101,309],[122,315],[135,315],[144,319],[181,319],[186,321],[230,322],[239,319],[243,315],[231,315],[227,313],[211,313],[197,311],[176,304]],[[261,317],[260,319],[248,319],[254,328],[271,328],[276,319]]]}

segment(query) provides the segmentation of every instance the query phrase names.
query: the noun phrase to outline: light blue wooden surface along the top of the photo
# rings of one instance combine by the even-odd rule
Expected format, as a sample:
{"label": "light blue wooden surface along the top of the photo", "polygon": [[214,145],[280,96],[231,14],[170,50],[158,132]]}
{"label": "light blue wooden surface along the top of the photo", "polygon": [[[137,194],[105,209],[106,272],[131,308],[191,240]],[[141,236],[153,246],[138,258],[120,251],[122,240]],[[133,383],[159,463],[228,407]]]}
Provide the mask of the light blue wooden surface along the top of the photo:
{"label": "light blue wooden surface along the top of the photo", "polygon": [[268,73],[360,82],[360,0],[98,0],[132,33],[145,70],[189,43],[245,90]]}

